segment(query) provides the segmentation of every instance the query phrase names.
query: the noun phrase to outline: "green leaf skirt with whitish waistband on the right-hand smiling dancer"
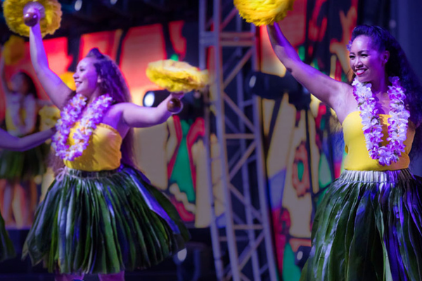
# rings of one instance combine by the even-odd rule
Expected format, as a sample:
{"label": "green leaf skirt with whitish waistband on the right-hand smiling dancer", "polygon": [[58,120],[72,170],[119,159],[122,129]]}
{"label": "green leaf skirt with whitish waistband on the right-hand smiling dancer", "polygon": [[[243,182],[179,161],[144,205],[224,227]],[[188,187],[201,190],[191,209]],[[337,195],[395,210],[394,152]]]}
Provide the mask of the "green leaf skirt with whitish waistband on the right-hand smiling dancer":
{"label": "green leaf skirt with whitish waistband on the right-hand smiling dancer", "polygon": [[422,280],[422,181],[409,169],[345,171],[312,227],[301,281]]}

